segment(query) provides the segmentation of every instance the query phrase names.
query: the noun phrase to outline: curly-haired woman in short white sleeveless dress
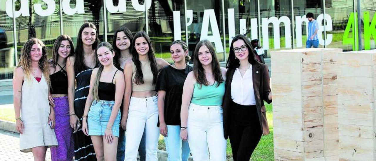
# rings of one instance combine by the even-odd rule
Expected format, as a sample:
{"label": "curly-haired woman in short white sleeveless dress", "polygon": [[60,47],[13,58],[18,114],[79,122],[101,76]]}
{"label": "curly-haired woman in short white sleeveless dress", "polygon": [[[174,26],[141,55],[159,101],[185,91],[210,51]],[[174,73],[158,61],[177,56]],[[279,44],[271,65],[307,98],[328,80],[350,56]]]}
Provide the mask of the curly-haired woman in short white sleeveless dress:
{"label": "curly-haired woman in short white sleeveless dress", "polygon": [[32,152],[35,161],[44,161],[47,148],[58,145],[53,130],[55,113],[48,99],[49,84],[45,46],[37,38],[29,39],[14,71],[13,97],[20,150]]}

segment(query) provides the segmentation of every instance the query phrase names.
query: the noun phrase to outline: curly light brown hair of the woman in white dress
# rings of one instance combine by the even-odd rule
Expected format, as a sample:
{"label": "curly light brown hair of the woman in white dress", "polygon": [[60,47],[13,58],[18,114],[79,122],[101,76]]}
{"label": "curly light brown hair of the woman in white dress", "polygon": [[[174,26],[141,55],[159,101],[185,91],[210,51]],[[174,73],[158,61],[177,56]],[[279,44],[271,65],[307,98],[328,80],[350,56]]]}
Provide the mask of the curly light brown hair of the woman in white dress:
{"label": "curly light brown hair of the woman in white dress", "polygon": [[41,59],[39,59],[38,66],[42,70],[44,79],[46,80],[47,84],[50,86],[50,69],[49,69],[49,65],[47,62],[46,47],[40,39],[31,38],[26,41],[26,43],[22,46],[20,61],[18,62],[17,67],[22,67],[26,78],[30,79],[30,66],[31,66],[30,50],[34,44],[39,44],[42,47],[42,57]]}

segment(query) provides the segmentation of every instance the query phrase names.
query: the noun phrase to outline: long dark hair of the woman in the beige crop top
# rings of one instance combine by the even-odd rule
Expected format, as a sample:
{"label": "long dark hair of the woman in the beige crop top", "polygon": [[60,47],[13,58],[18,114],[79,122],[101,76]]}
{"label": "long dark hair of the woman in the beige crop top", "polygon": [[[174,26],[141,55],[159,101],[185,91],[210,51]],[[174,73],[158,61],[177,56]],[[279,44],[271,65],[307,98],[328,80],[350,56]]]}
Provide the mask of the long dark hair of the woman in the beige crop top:
{"label": "long dark hair of the woman in the beige crop top", "polygon": [[157,67],[157,62],[155,60],[155,55],[154,55],[154,49],[152,46],[152,41],[149,38],[149,35],[145,31],[139,31],[133,36],[133,41],[132,41],[132,61],[136,66],[136,75],[134,82],[137,85],[144,84],[144,74],[142,73],[141,70],[141,61],[138,59],[138,53],[135,48],[135,42],[136,39],[139,37],[144,37],[146,39],[147,44],[149,45],[149,52],[147,52],[147,56],[149,57],[150,61],[150,69],[152,70],[153,73],[153,84],[156,84],[157,79],[158,79],[158,67]]}

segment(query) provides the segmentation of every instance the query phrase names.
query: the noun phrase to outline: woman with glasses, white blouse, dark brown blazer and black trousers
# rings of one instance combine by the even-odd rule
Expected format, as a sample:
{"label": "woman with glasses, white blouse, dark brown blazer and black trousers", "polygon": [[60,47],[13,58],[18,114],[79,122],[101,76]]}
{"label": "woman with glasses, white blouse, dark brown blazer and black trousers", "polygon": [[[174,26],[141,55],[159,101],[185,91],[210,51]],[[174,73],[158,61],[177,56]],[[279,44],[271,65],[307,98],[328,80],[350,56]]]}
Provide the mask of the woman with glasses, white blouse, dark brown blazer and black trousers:
{"label": "woman with glasses, white blouse, dark brown blazer and black trousers", "polygon": [[271,103],[269,71],[244,35],[232,39],[226,67],[224,137],[230,138],[234,161],[249,161],[261,134],[269,133],[264,106],[264,100]]}

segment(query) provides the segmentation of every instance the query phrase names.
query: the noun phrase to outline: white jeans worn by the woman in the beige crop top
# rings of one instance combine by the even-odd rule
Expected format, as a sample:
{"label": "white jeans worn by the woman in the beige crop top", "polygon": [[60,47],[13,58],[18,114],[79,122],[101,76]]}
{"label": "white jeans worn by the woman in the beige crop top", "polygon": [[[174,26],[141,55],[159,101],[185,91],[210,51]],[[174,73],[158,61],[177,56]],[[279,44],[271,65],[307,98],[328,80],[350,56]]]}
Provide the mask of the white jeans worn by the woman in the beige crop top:
{"label": "white jeans worn by the woman in the beige crop top", "polygon": [[127,131],[125,134],[125,161],[136,161],[138,146],[145,129],[146,161],[157,161],[159,138],[157,96],[130,97]]}

